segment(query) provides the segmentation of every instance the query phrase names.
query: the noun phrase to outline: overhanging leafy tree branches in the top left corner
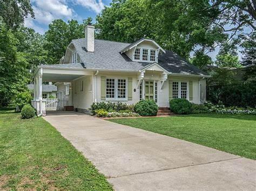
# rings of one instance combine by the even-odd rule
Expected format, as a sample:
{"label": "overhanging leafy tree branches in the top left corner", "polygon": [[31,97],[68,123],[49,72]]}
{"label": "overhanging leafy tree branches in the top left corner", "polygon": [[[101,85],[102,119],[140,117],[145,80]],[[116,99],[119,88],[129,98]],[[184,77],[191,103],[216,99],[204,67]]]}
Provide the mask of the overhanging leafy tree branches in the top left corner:
{"label": "overhanging leafy tree branches in the top left corner", "polygon": [[29,15],[35,17],[29,0],[0,0],[0,17],[7,28],[17,29]]}

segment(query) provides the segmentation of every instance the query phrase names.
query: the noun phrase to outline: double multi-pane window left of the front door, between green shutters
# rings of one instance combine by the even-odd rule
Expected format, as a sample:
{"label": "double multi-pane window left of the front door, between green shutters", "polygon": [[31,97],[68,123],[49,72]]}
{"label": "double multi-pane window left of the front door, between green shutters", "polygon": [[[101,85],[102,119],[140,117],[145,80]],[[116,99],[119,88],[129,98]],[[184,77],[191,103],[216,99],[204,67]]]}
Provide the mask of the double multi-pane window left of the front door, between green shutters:
{"label": "double multi-pane window left of the front door, between green shutters", "polygon": [[106,79],[106,98],[107,99],[126,99],[127,83],[126,79]]}

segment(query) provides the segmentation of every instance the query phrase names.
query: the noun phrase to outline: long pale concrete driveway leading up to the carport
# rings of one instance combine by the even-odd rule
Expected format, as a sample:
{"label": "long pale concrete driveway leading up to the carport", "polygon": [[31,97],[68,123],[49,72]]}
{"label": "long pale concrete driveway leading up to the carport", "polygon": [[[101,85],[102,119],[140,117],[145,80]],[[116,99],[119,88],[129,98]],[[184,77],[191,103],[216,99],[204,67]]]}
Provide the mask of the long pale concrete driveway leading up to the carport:
{"label": "long pale concrete driveway leading up to the carport", "polygon": [[77,112],[44,117],[116,190],[255,190],[256,162]]}

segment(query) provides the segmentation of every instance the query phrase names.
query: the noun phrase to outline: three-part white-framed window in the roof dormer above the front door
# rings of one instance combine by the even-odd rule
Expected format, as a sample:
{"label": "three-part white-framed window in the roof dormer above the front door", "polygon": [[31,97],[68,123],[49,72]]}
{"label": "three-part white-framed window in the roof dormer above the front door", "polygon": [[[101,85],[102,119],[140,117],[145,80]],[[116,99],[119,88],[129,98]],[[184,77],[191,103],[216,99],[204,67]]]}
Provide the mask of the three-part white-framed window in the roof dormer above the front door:
{"label": "three-part white-framed window in the roof dormer above the front door", "polygon": [[156,62],[156,49],[135,48],[134,61]]}

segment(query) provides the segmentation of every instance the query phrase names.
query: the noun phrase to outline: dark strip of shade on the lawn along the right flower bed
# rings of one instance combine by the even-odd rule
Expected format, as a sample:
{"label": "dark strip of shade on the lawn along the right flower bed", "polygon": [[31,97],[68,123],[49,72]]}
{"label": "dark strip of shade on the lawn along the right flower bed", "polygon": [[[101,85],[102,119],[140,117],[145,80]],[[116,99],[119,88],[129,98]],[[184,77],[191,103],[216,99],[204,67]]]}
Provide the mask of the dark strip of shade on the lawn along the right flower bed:
{"label": "dark strip of shade on the lawn along the right flower bed", "polygon": [[205,118],[218,118],[218,119],[242,119],[249,121],[256,121],[256,115],[234,115],[234,114],[190,114],[190,115],[176,115],[177,117],[205,117]]}

